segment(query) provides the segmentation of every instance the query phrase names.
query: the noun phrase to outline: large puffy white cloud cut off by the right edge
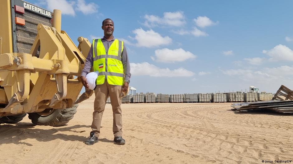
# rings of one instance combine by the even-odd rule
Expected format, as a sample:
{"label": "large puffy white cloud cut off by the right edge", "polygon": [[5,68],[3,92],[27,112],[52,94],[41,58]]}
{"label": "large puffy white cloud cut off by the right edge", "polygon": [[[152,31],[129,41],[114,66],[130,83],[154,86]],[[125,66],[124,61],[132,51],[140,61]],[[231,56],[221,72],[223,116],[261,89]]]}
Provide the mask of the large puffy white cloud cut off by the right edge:
{"label": "large puffy white cloud cut off by the right edge", "polygon": [[262,53],[271,56],[271,58],[269,59],[271,61],[279,61],[279,60],[293,61],[293,51],[290,48],[281,44],[277,45],[271,50],[263,50]]}

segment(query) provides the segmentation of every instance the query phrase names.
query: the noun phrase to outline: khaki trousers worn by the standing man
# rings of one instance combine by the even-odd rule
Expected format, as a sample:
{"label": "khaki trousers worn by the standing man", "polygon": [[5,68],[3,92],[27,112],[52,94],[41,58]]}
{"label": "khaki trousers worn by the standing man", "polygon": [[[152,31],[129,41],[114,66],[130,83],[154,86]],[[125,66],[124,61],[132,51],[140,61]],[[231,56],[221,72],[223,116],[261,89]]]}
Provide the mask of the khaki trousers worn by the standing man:
{"label": "khaki trousers worn by the standing man", "polygon": [[96,98],[94,101],[93,123],[91,128],[97,137],[100,135],[100,127],[108,95],[110,96],[113,110],[114,137],[122,136],[121,90],[122,86],[110,85],[107,79],[104,84],[96,85],[94,89]]}

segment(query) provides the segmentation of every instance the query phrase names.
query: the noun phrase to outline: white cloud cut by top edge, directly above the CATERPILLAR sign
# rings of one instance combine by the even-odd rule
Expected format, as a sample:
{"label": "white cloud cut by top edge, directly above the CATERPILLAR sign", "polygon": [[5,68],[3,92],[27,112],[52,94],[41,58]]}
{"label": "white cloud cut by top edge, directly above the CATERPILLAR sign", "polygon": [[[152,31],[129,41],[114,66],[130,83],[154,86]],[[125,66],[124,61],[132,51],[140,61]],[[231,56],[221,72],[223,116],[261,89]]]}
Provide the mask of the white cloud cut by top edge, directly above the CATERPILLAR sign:
{"label": "white cloud cut by top edge, directly above the CATERPILLAR sign", "polygon": [[75,16],[73,6],[75,2],[68,2],[66,0],[46,0],[48,10],[53,11],[54,9],[61,10],[62,14]]}

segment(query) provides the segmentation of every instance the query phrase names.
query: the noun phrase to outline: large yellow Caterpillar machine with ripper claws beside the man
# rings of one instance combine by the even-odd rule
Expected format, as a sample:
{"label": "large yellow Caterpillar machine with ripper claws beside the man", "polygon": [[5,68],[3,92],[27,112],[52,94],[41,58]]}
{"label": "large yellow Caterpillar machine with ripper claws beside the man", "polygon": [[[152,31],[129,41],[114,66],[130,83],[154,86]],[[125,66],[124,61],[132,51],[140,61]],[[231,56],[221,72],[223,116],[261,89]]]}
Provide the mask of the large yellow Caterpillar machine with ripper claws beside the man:
{"label": "large yellow Caterpillar machine with ripper claws beside the man", "polygon": [[76,113],[80,73],[90,42],[76,47],[61,30],[61,11],[22,0],[0,2],[0,123],[16,123],[28,113],[36,125],[63,126]]}

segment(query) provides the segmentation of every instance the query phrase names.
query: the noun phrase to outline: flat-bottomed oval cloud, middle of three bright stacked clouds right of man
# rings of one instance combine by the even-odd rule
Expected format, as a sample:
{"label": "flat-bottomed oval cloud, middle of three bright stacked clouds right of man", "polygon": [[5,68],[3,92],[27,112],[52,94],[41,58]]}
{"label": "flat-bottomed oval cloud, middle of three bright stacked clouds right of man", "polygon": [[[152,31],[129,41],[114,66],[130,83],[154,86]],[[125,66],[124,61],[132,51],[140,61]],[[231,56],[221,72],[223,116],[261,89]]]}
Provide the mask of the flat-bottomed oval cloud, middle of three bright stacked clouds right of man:
{"label": "flat-bottomed oval cloud, middle of three bright stacked clouds right of man", "polygon": [[170,50],[168,48],[156,50],[155,56],[156,57],[151,56],[151,59],[163,63],[175,63],[196,58],[196,55],[182,48],[175,50]]}

